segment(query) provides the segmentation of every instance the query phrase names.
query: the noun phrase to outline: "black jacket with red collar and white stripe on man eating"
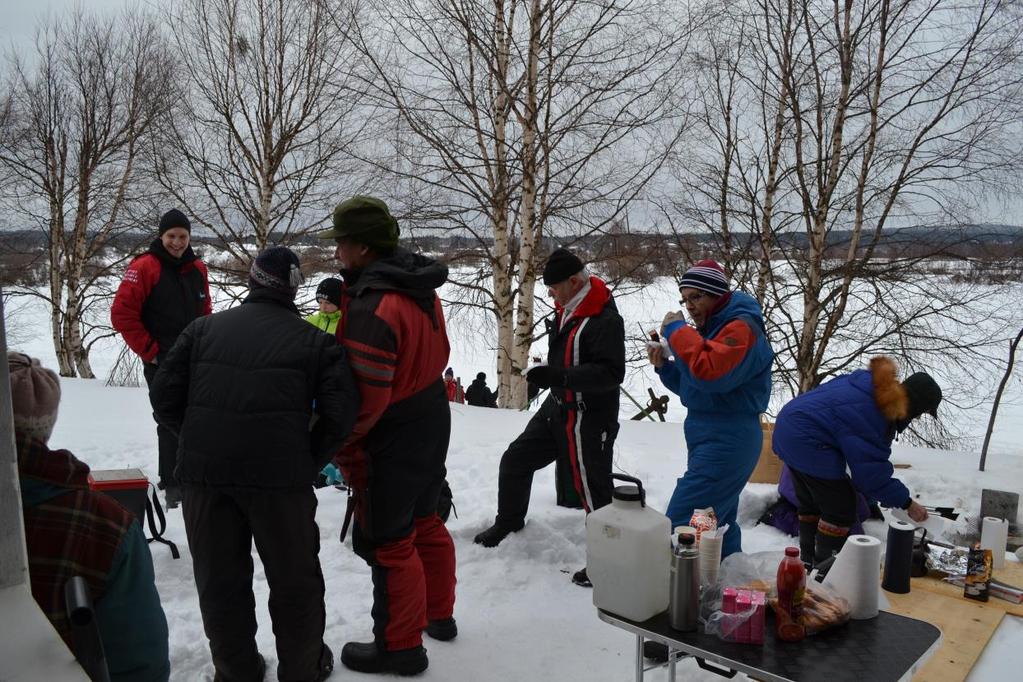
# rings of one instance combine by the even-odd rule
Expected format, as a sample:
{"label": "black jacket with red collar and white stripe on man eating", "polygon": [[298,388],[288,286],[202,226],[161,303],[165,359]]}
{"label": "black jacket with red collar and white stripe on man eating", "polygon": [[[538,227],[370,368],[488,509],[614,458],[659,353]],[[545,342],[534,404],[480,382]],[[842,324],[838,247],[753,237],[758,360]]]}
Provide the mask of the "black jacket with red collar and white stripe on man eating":
{"label": "black jacket with red collar and white stripe on man eating", "polygon": [[589,278],[589,292],[568,319],[557,306],[544,320],[547,365],[563,369],[550,387],[553,400],[572,408],[618,414],[625,378],[625,325],[608,285]]}

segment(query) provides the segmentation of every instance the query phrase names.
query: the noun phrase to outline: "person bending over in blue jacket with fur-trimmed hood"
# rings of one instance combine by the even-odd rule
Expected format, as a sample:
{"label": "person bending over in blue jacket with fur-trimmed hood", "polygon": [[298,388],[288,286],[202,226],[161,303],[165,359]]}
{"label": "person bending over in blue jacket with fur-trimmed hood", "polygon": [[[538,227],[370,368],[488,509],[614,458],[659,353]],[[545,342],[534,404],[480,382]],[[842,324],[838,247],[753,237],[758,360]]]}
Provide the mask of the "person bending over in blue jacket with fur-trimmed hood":
{"label": "person bending over in blue jacket with fur-trimmed hood", "polygon": [[[797,396],[782,408],[772,447],[792,471],[799,511],[799,553],[813,564],[837,553],[856,520],[856,491],[915,521],[927,509],[892,476],[895,436],[924,415],[937,417],[941,387],[926,372],[899,382],[885,356]],[[851,478],[849,473],[851,473]]]}

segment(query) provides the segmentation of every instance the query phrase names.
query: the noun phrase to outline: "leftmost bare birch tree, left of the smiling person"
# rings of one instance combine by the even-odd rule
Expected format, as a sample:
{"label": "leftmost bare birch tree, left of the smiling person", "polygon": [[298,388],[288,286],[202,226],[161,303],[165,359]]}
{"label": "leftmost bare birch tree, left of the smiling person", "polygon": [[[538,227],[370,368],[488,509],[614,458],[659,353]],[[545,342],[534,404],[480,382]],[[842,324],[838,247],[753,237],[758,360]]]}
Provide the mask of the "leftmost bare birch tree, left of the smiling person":
{"label": "leftmost bare birch tree, left of the smiling person", "polygon": [[105,304],[120,264],[106,245],[151,218],[139,158],[167,103],[166,54],[149,18],[78,11],[45,25],[31,58],[7,63],[0,202],[45,235],[47,286],[26,291],[49,305],[62,376],[93,378],[89,350],[112,333]]}

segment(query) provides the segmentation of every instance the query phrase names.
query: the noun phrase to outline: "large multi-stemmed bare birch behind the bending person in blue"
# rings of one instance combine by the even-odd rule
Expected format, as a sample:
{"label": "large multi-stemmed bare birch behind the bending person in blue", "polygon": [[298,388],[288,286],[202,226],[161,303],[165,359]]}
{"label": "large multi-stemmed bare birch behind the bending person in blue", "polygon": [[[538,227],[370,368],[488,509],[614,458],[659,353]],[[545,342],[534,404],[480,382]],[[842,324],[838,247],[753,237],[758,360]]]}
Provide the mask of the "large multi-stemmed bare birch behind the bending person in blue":
{"label": "large multi-stemmed bare birch behind the bending person in blue", "polygon": [[793,393],[879,352],[975,371],[990,336],[960,330],[991,289],[929,276],[955,230],[899,230],[969,223],[1018,177],[1020,38],[997,0],[745,0],[701,43],[670,212],[719,236]]}

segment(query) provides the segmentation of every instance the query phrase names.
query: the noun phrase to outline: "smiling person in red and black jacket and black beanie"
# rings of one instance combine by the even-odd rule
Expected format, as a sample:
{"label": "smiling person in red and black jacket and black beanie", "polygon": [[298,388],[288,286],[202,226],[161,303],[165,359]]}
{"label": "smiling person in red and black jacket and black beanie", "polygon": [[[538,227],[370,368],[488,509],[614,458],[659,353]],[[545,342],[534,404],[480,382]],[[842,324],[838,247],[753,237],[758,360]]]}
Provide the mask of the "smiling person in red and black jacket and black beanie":
{"label": "smiling person in red and black jacket and black beanie", "polygon": [[[206,265],[195,256],[190,240],[188,218],[177,209],[165,213],[158,237],[145,254],[128,266],[110,306],[110,323],[128,348],[142,359],[148,387],[181,330],[196,317],[213,312]],[[181,489],[174,478],[178,440],[159,424],[157,440],[157,486],[164,491],[168,508],[173,509],[181,500]]]}

